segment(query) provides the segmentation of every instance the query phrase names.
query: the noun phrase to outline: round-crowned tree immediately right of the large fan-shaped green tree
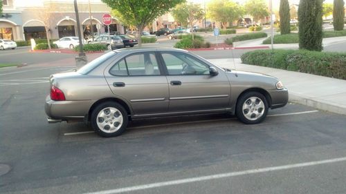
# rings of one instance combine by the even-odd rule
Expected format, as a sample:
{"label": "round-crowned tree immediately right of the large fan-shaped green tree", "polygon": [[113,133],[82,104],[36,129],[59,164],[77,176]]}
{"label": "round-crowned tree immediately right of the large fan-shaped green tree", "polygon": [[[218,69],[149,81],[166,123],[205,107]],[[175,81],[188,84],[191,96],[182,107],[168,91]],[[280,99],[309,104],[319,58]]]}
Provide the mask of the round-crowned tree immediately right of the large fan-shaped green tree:
{"label": "round-crowned tree immediately right of the large fan-shaped green tree", "polygon": [[180,21],[181,26],[190,28],[203,19],[204,12],[201,6],[196,3],[181,3],[172,10],[172,15],[176,21]]}

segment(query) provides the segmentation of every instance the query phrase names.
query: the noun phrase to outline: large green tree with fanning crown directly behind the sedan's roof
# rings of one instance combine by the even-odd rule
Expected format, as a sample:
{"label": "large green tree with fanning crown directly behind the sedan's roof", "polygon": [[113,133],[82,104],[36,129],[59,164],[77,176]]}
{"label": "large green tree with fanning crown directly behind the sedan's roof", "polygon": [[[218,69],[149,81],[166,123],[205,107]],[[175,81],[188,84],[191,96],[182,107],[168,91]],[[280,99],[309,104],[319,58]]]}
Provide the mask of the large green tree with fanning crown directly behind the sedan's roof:
{"label": "large green tree with fanning crown directly behind the sedan's roof", "polygon": [[138,35],[138,46],[142,46],[143,29],[148,23],[154,21],[156,17],[168,12],[184,0],[102,0],[113,10],[117,10],[121,14],[122,19],[126,19],[126,23],[136,26]]}

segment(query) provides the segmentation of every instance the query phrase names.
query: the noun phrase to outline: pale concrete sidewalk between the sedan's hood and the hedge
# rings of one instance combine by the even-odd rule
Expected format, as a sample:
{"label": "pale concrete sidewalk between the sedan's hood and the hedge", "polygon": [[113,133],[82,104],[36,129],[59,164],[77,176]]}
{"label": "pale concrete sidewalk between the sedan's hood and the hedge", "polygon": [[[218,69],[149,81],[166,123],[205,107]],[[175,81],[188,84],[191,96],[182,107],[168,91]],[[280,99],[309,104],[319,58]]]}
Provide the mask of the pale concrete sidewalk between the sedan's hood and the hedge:
{"label": "pale concrete sidewalk between the sedan's hood and the hedge", "polygon": [[240,59],[209,59],[224,68],[260,72],[280,79],[289,89],[289,101],[346,115],[346,80],[262,66],[242,64]]}

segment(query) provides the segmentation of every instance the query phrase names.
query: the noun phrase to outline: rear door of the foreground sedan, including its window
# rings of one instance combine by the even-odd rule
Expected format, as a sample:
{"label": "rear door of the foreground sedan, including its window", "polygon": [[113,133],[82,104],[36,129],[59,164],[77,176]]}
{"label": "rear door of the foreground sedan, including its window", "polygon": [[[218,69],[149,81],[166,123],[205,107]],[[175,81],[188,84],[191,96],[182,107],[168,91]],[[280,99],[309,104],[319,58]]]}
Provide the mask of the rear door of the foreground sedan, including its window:
{"label": "rear door of the foreground sedan, including its window", "polygon": [[135,116],[167,112],[168,84],[156,52],[127,55],[105,75],[113,94],[126,99]]}

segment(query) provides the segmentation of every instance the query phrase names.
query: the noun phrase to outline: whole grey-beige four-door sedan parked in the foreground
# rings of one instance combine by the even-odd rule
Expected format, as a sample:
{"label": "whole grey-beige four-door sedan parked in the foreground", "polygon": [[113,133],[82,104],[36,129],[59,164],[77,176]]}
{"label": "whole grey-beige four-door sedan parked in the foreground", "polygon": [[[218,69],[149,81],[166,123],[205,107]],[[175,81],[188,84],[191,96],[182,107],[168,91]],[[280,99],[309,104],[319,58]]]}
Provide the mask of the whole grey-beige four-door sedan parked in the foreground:
{"label": "whole grey-beige four-door sedan parked in the foreground", "polygon": [[48,122],[88,121],[103,137],[118,136],[129,120],[143,117],[230,113],[257,124],[288,100],[275,77],[219,68],[173,48],[108,52],[50,81]]}

